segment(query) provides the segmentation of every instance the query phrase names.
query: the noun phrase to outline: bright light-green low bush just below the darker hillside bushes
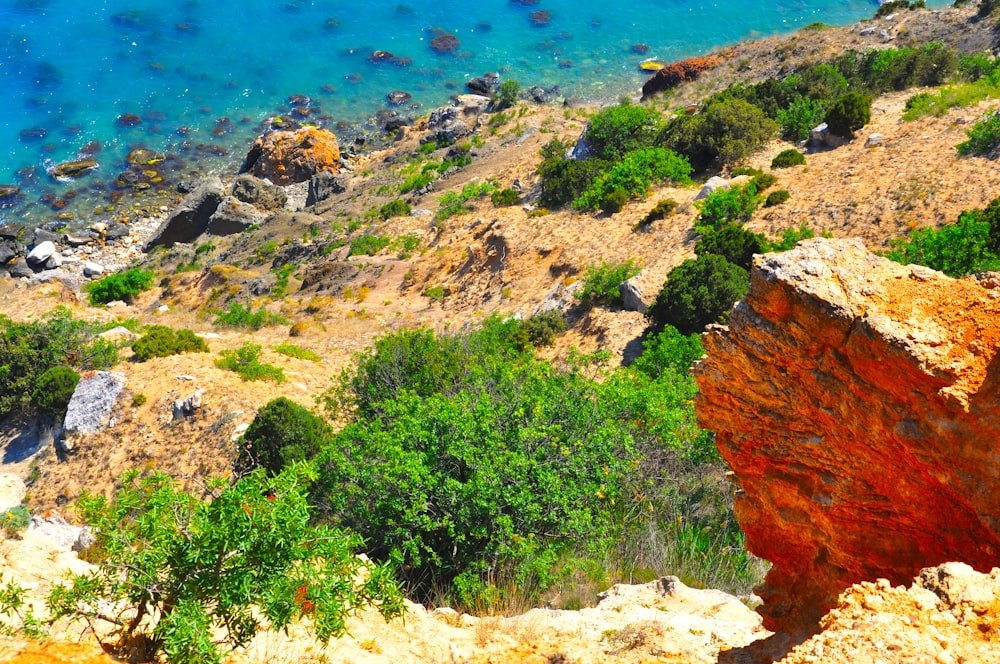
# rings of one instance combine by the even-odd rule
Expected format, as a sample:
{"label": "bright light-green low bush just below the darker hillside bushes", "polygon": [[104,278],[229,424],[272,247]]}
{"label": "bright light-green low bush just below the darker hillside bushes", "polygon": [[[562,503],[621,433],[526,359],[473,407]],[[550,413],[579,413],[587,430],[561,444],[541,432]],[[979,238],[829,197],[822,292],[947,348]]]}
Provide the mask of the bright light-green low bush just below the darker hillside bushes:
{"label": "bright light-green low bush just below the darker hillside bushes", "polygon": [[619,211],[629,198],[644,198],[654,182],[691,181],[687,159],[663,148],[644,148],[629,152],[621,161],[598,175],[573,201],[573,207]]}

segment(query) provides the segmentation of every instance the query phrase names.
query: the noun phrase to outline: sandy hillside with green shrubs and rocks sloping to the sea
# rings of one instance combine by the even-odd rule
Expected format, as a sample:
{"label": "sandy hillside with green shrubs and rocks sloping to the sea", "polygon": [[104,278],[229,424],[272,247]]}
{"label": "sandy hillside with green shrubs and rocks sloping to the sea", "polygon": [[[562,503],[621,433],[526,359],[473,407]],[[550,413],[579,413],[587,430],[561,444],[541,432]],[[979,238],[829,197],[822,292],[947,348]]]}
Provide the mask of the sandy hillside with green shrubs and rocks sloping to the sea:
{"label": "sandy hillside with green shrubs and rocks sloping to the sea", "polygon": [[[843,471],[874,486],[858,461],[880,467],[850,448],[858,431],[826,421],[833,409],[896,435],[922,417],[919,404],[883,412],[904,377],[940,382],[962,373],[958,356],[991,366],[991,324],[946,312],[966,291],[988,308],[995,277],[953,278],[1000,269],[991,8],[904,1],[659,63],[644,100],[603,108],[484,77],[485,95],[382,118],[376,150],[280,119],[241,172],[185,183],[155,216],[0,228],[0,472],[16,476],[0,544],[4,581],[32,604],[0,593],[0,609],[18,604],[11,631],[41,633],[34,607],[69,569],[103,580],[49,605],[51,633],[84,653],[96,635],[134,661],[238,646],[227,661],[847,662],[864,639],[816,633],[851,620],[891,623],[900,656],[988,661],[996,591],[958,588],[995,585],[992,544],[924,533],[992,519],[965,471],[903,464],[927,481],[888,481],[878,509],[819,485]],[[847,263],[860,285],[836,277]],[[933,311],[907,319],[928,283]],[[814,347],[876,320],[886,298],[899,306],[884,317],[911,327]],[[967,352],[939,357],[952,333]],[[930,350],[903,361],[893,344]],[[813,356],[828,359],[802,369]],[[892,367],[876,381],[890,396],[869,404],[875,390],[834,359]],[[768,410],[818,403],[824,386],[830,404]],[[975,429],[965,397],[931,391],[935,426]],[[844,449],[767,447],[807,429]],[[976,454],[969,469],[988,474]],[[906,513],[915,496],[934,502],[934,482],[972,507]],[[831,510],[860,530],[824,523]],[[887,544],[858,562],[890,525],[920,555]],[[974,570],[936,567],[949,562]],[[264,633],[286,623],[290,635]]]}

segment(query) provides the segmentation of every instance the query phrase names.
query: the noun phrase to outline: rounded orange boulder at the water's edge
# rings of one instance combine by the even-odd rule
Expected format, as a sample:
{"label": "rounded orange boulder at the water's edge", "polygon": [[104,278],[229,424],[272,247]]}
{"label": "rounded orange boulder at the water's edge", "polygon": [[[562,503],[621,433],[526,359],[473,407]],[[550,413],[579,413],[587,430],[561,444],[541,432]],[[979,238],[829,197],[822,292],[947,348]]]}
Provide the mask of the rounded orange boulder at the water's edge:
{"label": "rounded orange boulder at the water's edge", "polygon": [[281,186],[305,182],[320,171],[340,172],[340,148],[332,132],[315,127],[258,137],[242,168]]}

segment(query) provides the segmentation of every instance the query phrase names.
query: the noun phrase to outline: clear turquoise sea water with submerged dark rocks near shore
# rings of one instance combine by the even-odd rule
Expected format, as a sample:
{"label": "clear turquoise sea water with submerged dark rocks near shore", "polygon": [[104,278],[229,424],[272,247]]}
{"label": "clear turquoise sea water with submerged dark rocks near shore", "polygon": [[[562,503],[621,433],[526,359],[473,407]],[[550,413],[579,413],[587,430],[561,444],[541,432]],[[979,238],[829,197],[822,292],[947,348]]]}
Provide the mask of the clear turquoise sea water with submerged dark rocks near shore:
{"label": "clear turquoise sea water with submerged dark rocks near shore", "polygon": [[[934,3],[932,3],[934,4]],[[945,2],[938,2],[943,6]],[[38,223],[74,211],[92,223],[129,149],[176,155],[167,167],[235,168],[290,95],[335,127],[413,95],[418,115],[498,71],[525,85],[587,99],[636,95],[647,58],[676,60],[822,21],[870,17],[873,0],[0,0],[0,184],[21,186],[0,222]],[[546,11],[536,25],[531,13]],[[435,53],[433,29],[457,37]],[[437,33],[440,34],[440,33]],[[648,52],[637,54],[636,44]],[[373,51],[408,59],[372,63]],[[135,114],[137,126],[117,126]],[[94,143],[94,142],[97,143]],[[99,146],[100,168],[55,182],[52,163]],[[165,177],[157,187],[172,188]],[[67,196],[68,193],[85,194]],[[81,203],[81,201],[85,201]],[[60,205],[61,203],[61,205]],[[119,201],[120,203],[120,201]],[[66,215],[64,214],[64,217]]]}

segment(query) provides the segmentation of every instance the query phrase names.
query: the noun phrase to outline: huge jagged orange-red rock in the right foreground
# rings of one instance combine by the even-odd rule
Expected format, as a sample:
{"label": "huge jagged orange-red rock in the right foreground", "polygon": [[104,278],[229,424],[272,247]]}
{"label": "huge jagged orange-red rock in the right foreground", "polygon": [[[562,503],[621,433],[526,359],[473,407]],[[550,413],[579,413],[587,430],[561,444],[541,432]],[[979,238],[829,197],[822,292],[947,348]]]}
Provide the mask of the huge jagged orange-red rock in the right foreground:
{"label": "huge jagged orange-red rock in the right foreground", "polygon": [[758,259],[703,340],[698,419],[773,564],[765,627],[812,625],[860,581],[1000,566],[1000,280],[811,240]]}

